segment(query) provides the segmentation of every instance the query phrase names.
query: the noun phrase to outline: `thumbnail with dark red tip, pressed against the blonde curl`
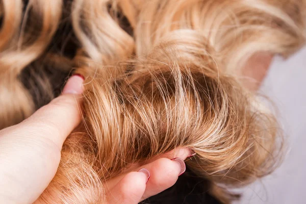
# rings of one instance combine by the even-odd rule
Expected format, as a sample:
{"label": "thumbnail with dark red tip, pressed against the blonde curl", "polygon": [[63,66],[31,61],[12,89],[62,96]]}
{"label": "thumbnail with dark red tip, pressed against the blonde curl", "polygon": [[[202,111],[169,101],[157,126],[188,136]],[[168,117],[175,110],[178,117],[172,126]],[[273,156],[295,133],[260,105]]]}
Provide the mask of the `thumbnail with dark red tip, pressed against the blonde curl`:
{"label": "thumbnail with dark red tip, pressed against the blonde curl", "polygon": [[81,74],[74,74],[70,77],[62,91],[63,94],[83,93],[84,77]]}

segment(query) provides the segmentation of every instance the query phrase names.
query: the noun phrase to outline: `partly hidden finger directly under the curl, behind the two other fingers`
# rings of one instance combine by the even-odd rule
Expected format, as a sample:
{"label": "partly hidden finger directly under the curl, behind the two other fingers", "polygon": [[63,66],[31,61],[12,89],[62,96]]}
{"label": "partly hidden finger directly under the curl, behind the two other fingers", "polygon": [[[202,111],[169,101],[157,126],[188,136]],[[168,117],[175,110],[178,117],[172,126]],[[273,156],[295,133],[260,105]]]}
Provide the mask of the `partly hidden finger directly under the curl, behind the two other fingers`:
{"label": "partly hidden finger directly under the curl, behind the two other fingers", "polygon": [[[158,159],[161,158],[168,158],[168,159],[173,159],[173,158],[181,158],[183,160],[187,159],[188,157],[192,157],[194,155],[194,153],[188,149],[188,148],[176,148],[173,149],[169,152],[166,152],[165,154],[161,154],[158,155],[150,160],[145,161],[145,163],[138,163],[138,164],[133,164],[132,167],[128,170],[126,170],[126,172],[131,172],[131,171],[137,171],[138,169],[144,168],[145,164],[149,164],[151,162],[154,162]],[[106,183],[106,188],[107,189],[111,189],[113,188],[124,176],[125,174],[121,174],[118,175],[114,178],[112,178],[111,180],[107,181]]]}

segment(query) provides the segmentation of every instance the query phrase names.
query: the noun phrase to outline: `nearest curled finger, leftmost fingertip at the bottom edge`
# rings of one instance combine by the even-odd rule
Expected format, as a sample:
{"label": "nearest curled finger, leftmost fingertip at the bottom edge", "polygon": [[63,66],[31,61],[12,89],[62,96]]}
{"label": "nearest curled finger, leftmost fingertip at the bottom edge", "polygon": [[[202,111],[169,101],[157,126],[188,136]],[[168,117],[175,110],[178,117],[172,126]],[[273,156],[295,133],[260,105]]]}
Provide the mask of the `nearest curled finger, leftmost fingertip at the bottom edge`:
{"label": "nearest curled finger, leftmost fingertip at the bottom edge", "polygon": [[146,169],[127,173],[123,179],[107,193],[108,203],[137,204],[143,196],[149,177],[150,173]]}

